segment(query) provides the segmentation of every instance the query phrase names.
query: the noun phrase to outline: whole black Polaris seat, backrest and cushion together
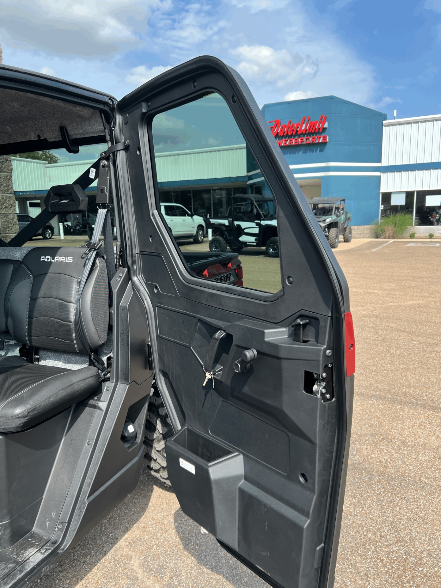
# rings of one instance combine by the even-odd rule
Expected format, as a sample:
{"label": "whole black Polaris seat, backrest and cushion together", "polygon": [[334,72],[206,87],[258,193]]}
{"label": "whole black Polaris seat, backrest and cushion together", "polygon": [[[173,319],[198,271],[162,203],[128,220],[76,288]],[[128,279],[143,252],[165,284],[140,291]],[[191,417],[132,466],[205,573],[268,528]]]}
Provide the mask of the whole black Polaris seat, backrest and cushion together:
{"label": "whole black Polaris seat, backrest and cushion together", "polygon": [[[83,248],[36,247],[19,263],[4,303],[6,324],[17,342],[77,353],[89,353],[105,342],[109,302],[101,258],[93,263],[79,309],[89,349],[81,345],[75,325],[83,252]],[[0,432],[28,429],[87,398],[100,383],[93,366],[69,370],[29,363],[19,356],[1,358]]]}

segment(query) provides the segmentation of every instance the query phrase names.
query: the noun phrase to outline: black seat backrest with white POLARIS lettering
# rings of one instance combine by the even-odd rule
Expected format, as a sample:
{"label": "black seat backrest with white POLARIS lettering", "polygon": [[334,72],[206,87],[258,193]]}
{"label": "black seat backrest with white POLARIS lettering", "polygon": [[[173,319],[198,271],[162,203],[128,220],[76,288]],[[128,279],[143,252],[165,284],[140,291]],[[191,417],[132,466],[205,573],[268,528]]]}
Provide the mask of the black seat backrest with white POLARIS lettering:
{"label": "black seat backrest with white POLARIS lettering", "polygon": [[97,257],[93,263],[79,309],[89,349],[83,348],[75,328],[84,251],[80,247],[35,247],[19,262],[6,289],[4,305],[6,324],[16,341],[80,353],[89,353],[105,342],[109,290],[102,258]]}

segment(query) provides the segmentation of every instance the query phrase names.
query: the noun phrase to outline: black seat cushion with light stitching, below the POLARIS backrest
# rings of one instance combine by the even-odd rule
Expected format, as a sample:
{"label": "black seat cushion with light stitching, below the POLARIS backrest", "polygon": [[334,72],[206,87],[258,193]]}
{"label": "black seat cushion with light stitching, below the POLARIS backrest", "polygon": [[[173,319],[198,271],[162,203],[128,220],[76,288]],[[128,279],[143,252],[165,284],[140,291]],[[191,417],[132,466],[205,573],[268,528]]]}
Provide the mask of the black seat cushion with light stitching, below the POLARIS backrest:
{"label": "black seat cushion with light stitching, below the POLARIS backrest", "polygon": [[95,392],[98,370],[28,363],[18,356],[0,359],[0,432],[28,429]]}

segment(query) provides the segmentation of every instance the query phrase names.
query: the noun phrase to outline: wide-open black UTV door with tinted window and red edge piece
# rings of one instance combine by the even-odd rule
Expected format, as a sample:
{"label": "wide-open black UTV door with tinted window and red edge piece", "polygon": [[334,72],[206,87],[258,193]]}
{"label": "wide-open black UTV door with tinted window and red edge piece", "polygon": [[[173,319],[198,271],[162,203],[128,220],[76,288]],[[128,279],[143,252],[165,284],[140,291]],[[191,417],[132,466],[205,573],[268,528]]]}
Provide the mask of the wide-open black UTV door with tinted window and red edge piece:
{"label": "wide-open black UTV door with tinted window and red edge piece", "polygon": [[[182,510],[272,586],[332,586],[355,370],[345,277],[228,66],[193,59],[125,96],[116,116],[130,145],[117,152],[129,270],[176,433],[166,456]],[[216,217],[256,183],[276,201],[277,265],[260,252],[256,273],[240,253],[244,288],[196,277],[160,202],[179,189]]]}

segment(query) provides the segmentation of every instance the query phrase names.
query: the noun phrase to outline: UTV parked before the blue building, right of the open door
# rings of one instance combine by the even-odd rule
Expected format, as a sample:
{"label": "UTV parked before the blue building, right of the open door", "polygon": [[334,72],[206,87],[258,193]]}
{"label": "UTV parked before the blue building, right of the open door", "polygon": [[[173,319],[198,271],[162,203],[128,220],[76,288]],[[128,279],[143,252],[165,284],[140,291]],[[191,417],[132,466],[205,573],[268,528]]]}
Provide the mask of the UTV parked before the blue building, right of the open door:
{"label": "UTV parked before the blue building, right of the open door", "polygon": [[352,216],[346,210],[344,198],[313,198],[309,206],[332,249],[338,248],[340,235],[345,243],[351,242]]}

